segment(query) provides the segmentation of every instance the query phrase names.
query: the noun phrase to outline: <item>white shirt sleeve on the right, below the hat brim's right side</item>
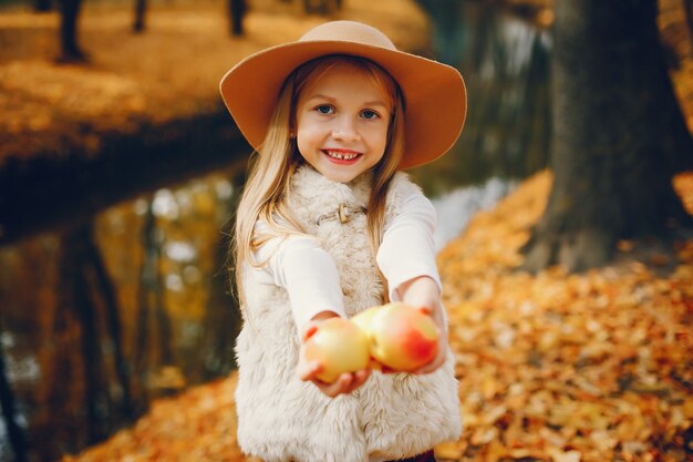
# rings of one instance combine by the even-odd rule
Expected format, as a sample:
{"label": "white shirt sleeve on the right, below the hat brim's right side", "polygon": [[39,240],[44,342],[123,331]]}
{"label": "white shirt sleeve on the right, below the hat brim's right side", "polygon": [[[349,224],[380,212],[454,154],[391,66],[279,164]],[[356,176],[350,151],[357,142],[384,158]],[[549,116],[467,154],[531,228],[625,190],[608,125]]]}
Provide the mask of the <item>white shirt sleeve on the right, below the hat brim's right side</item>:
{"label": "white shirt sleeve on the right, below the hat brim's right side", "polygon": [[391,300],[400,300],[399,287],[420,276],[432,278],[442,292],[435,263],[435,208],[426,196],[417,192],[404,198],[400,214],[385,229],[376,256]]}

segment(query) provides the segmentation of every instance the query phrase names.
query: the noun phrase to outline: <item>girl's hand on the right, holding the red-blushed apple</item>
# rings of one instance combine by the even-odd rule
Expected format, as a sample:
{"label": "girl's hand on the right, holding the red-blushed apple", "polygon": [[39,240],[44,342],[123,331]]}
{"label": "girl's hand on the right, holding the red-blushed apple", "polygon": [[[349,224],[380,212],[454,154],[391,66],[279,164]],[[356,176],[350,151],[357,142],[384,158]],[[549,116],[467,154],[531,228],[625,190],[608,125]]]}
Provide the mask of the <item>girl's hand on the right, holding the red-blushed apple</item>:
{"label": "girl's hand on the right, holding the red-blushed apple", "polygon": [[422,276],[408,280],[397,288],[403,302],[414,308],[425,310],[433,318],[438,332],[438,353],[431,362],[424,365],[413,373],[430,373],[443,366],[447,352],[447,329],[443,320],[443,306],[441,305],[441,291],[433,279]]}

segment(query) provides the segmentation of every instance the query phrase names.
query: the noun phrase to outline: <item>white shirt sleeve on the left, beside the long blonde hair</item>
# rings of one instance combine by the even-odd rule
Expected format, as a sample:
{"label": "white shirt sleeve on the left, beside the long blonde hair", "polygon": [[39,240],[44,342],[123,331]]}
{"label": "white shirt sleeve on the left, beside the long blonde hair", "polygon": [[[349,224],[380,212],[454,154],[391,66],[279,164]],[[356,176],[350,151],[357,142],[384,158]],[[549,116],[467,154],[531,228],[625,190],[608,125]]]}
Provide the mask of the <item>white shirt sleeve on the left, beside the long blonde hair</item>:
{"label": "white shirt sleeve on the left, beside the long blonde hair", "polygon": [[323,311],[346,317],[337,265],[317,239],[309,236],[272,237],[255,251],[255,258],[265,263],[254,268],[259,280],[282,287],[289,294],[299,331]]}

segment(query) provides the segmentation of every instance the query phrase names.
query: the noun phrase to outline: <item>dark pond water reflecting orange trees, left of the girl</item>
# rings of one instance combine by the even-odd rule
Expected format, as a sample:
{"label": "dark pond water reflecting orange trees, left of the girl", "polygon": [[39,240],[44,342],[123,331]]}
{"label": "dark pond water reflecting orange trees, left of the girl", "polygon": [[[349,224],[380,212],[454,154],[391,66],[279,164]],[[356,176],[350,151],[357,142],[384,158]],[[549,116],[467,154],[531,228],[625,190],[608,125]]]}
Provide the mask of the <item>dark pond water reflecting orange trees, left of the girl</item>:
{"label": "dark pond water reflecting orange trees, left of the girl", "polygon": [[[162,189],[0,249],[0,345],[30,460],[76,452],[151,399],[234,368],[238,320],[223,269],[232,177]],[[14,460],[0,441],[0,460]]]}

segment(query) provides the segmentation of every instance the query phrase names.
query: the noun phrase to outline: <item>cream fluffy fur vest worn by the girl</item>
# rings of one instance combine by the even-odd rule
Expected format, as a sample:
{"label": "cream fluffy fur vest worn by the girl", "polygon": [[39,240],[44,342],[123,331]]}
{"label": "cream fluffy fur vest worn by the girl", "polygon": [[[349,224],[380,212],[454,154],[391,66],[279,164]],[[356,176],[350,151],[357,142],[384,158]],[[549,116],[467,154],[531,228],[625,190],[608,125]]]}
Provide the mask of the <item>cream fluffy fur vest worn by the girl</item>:
{"label": "cream fluffy fur vest worn by the girl", "polygon": [[[369,182],[365,174],[350,184],[332,183],[302,166],[288,197],[294,216],[334,259],[349,316],[381,305],[383,288],[365,215],[358,213],[342,224],[325,214],[337,213],[341,204],[365,207]],[[418,191],[397,173],[390,186],[385,226],[412,188]],[[299,337],[286,290],[256,281],[252,271],[245,275],[245,324],[236,345],[238,443],[245,453],[267,462],[366,462],[369,456],[412,456],[459,437],[449,351],[446,363],[431,374],[373,372],[353,393],[328,398],[297,378]]]}

